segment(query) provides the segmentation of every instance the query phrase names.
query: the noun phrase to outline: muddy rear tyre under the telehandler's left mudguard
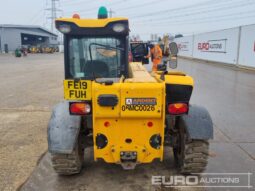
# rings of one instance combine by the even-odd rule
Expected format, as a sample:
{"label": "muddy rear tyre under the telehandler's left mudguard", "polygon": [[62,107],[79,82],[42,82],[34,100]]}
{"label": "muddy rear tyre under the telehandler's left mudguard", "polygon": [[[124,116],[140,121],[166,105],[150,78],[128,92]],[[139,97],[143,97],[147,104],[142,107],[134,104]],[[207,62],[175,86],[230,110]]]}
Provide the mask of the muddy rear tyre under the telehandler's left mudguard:
{"label": "muddy rear tyre under the telehandler's left mudguard", "polygon": [[71,154],[51,154],[52,167],[59,175],[78,174],[84,161],[84,150],[77,141]]}

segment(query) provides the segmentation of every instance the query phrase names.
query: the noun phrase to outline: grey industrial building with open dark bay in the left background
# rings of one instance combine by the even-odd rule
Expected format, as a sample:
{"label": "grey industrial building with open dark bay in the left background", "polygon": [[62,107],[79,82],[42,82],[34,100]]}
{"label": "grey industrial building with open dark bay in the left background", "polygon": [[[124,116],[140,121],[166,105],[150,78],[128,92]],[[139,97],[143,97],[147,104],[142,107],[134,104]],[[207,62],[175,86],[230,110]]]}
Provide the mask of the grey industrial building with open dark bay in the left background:
{"label": "grey industrial building with open dark bay in the left background", "polygon": [[0,52],[38,45],[58,45],[58,36],[40,26],[0,25]]}

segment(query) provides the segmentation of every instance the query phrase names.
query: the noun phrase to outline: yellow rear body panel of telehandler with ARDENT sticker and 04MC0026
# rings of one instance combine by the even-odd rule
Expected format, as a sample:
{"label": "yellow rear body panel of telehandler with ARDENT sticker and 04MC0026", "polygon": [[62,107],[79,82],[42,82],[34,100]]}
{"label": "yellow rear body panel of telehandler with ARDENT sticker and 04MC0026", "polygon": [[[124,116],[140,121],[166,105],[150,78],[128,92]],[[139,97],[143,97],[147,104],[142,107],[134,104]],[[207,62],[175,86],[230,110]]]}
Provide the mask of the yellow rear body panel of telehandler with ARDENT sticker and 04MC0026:
{"label": "yellow rear body panel of telehandler with ARDENT sticker and 04MC0026", "polygon": [[[108,138],[108,144],[100,149],[94,146],[94,159],[104,159],[109,163],[120,163],[120,152],[137,152],[137,163],[148,163],[155,158],[163,159],[163,145],[159,149],[150,146],[150,138],[160,134],[164,138],[164,83],[115,83],[105,86],[93,83],[93,136],[94,142],[98,134]],[[118,96],[118,105],[101,107],[97,104],[101,94],[115,94]],[[155,106],[128,105],[130,98],[155,98]],[[131,110],[127,109],[132,106]],[[105,123],[109,126],[105,126]],[[152,122],[153,126],[148,127]],[[127,143],[126,140],[132,140]]]}

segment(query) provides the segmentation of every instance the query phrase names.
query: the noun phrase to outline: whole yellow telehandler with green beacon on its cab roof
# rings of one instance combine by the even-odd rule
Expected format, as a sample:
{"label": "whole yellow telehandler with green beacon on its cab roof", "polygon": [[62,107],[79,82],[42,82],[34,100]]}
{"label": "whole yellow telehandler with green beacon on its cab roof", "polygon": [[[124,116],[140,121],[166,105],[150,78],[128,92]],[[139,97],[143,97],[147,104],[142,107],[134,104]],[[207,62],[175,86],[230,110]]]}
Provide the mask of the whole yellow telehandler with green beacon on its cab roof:
{"label": "whole yellow telehandler with green beacon on its cab roof", "polygon": [[[58,174],[79,173],[88,147],[95,161],[134,169],[163,161],[171,146],[180,173],[205,170],[213,125],[206,109],[189,104],[190,76],[128,63],[128,19],[107,18],[105,8],[98,19],[75,15],[56,27],[64,34],[66,101],[53,110],[48,148]],[[170,46],[177,62],[176,44]]]}

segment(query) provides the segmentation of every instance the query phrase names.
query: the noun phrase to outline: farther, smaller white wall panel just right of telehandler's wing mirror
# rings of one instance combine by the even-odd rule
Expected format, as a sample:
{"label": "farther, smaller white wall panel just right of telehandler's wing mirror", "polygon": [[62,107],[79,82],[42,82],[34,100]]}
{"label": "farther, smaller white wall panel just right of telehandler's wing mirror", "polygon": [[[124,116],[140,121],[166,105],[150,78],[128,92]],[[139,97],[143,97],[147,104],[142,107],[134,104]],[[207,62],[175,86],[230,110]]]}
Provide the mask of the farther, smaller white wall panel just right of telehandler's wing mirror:
{"label": "farther, smaller white wall panel just right of telehandler's wing mirror", "polygon": [[182,38],[176,38],[174,39],[174,41],[176,42],[178,46],[180,56],[192,57],[193,36],[185,36]]}

